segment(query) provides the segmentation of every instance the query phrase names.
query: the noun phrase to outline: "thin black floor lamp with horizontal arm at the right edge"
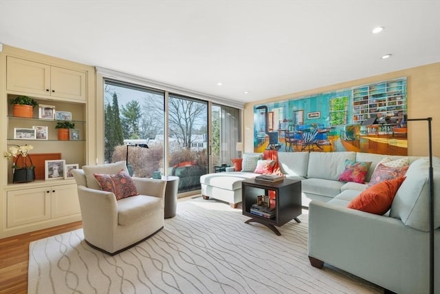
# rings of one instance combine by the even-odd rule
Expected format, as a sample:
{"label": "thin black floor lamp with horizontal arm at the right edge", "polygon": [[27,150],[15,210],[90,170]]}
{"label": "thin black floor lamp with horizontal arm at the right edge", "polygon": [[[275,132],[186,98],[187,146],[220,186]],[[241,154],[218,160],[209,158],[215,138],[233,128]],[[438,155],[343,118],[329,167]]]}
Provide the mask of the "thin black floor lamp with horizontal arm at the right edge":
{"label": "thin black floor lamp with horizontal arm at the right edge", "polygon": [[434,169],[432,167],[432,118],[408,118],[407,121],[428,121],[429,139],[429,291],[434,294]]}

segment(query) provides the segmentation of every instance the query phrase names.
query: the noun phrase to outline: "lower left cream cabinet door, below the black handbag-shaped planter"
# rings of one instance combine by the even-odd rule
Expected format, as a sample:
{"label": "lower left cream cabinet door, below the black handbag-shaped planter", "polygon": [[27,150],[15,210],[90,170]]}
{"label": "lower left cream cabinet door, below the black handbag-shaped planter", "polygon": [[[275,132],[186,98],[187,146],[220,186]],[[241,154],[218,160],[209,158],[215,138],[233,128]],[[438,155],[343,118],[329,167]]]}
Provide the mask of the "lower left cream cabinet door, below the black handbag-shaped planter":
{"label": "lower left cream cabinet door, below the black handbag-shaped planter", "polygon": [[8,191],[7,227],[49,220],[50,187]]}

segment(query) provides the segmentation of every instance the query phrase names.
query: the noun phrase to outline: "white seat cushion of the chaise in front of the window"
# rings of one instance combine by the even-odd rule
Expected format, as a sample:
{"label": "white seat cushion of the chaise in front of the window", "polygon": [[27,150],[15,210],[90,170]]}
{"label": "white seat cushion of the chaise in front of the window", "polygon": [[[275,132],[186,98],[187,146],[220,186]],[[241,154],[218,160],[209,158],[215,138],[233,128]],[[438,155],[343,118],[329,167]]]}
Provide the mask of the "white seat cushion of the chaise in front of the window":
{"label": "white seat cushion of the chaise in front of the window", "polygon": [[206,174],[200,177],[200,183],[218,187],[226,190],[241,189],[241,182],[250,178],[255,178],[259,174],[246,172],[224,172],[216,174]]}

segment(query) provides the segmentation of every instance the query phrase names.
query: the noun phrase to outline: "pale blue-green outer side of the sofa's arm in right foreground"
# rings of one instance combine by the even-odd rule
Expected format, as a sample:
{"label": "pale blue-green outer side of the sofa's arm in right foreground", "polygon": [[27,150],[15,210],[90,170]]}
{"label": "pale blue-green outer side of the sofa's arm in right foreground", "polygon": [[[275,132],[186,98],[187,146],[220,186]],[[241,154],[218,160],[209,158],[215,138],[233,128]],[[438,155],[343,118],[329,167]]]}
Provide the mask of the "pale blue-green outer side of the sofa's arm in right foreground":
{"label": "pale blue-green outer side of the sofa's arm in right foreground", "polygon": [[308,253],[396,293],[427,290],[428,233],[396,218],[311,201]]}

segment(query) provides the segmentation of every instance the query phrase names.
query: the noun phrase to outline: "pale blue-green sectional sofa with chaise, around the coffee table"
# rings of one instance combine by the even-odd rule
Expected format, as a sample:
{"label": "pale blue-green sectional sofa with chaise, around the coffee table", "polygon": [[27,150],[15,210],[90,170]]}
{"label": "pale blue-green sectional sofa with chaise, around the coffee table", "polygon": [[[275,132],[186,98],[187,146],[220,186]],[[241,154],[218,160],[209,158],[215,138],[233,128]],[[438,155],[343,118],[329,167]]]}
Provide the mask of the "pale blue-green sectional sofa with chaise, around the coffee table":
{"label": "pale blue-green sectional sofa with chaise, around the coffee table", "polygon": [[[384,216],[348,209],[367,187],[340,182],[346,159],[371,161],[366,182],[380,160],[408,157],[410,167]],[[440,276],[440,158],[434,158],[435,273]],[[357,152],[279,152],[286,178],[301,180],[303,206],[309,207],[309,258],[358,275],[395,293],[428,293],[428,165],[426,157]],[[241,202],[241,181],[258,174],[226,172],[201,176],[202,194]],[[440,278],[435,281],[440,293]]]}

